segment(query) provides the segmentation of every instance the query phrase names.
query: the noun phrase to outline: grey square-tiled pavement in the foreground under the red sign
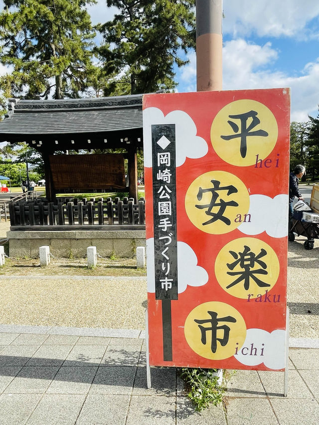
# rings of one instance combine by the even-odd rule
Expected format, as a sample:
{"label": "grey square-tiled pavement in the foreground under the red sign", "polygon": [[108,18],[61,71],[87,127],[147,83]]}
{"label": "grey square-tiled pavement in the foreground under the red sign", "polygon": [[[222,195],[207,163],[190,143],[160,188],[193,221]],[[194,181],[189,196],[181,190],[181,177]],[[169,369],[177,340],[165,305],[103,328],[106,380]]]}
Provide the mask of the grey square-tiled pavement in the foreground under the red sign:
{"label": "grey square-tiled pavement in the foreground under the red sign", "polygon": [[287,398],[283,372],[237,371],[225,404],[198,414],[175,368],[152,368],[147,389],[140,332],[86,336],[108,331],[10,325],[0,331],[3,425],[318,424],[319,347],[290,349]]}

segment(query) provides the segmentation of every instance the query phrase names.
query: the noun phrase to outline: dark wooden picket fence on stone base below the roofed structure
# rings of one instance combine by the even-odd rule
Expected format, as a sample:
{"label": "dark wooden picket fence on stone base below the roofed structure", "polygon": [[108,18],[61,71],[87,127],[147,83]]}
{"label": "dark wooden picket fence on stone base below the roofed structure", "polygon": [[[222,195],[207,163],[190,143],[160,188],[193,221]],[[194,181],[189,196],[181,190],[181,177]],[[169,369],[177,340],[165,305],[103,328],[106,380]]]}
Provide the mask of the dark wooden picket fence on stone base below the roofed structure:
{"label": "dark wooden picket fence on stone base below the roofed structure", "polygon": [[[138,204],[133,198],[58,198],[55,202],[46,199],[33,201],[20,200],[9,203],[11,227],[39,228],[55,226],[145,226],[145,200],[140,198]],[[133,230],[133,229],[132,229]]]}

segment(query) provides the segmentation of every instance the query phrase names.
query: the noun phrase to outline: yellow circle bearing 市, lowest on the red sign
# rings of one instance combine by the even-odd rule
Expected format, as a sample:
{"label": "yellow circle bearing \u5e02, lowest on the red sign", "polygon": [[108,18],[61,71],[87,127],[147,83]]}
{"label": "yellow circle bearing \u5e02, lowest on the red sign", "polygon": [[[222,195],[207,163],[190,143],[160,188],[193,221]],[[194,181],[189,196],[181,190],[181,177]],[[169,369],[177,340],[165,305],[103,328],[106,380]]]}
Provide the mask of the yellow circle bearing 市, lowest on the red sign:
{"label": "yellow circle bearing \u5e02, lowest on the red sign", "polygon": [[187,316],[185,338],[190,348],[205,359],[228,359],[241,348],[246,338],[242,315],[224,302],[197,305]]}

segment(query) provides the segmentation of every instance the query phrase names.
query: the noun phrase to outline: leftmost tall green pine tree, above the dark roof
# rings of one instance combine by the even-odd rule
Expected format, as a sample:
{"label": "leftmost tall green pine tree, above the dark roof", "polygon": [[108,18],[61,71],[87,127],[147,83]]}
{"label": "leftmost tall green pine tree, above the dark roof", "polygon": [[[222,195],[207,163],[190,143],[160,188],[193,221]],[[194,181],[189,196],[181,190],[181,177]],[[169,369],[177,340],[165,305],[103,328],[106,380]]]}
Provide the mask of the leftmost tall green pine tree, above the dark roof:
{"label": "leftmost tall green pine tree, above the dark roof", "polygon": [[[0,60],[11,74],[0,78],[7,97],[77,98],[90,85],[95,32],[85,9],[95,0],[4,0]],[[53,93],[52,93],[53,92]]]}

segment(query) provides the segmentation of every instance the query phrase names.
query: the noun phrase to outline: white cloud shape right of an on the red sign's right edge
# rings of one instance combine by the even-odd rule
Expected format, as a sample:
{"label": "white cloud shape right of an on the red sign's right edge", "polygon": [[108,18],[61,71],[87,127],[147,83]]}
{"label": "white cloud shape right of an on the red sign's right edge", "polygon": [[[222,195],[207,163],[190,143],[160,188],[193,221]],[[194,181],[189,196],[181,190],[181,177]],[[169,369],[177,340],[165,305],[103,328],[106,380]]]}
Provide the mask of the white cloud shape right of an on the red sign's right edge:
{"label": "white cloud shape right of an on the red sign's right edge", "polygon": [[249,199],[250,222],[241,223],[238,230],[245,235],[259,235],[266,231],[272,238],[288,235],[288,195],[277,195],[274,198],[250,195]]}

